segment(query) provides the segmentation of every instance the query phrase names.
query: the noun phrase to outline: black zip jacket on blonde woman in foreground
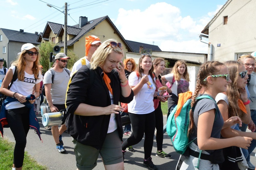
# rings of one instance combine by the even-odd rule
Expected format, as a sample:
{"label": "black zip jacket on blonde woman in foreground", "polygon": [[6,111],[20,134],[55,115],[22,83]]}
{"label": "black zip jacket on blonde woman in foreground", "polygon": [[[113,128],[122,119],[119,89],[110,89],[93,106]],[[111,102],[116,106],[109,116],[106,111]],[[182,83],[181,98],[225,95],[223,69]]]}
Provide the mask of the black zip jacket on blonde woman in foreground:
{"label": "black zip jacket on blonde woman in foreground", "polygon": [[[100,116],[79,116],[74,112],[80,103],[86,103],[92,106],[106,107],[111,105],[109,89],[103,80],[103,71],[100,67],[92,70],[94,76],[90,77],[90,69],[82,66],[71,78],[67,92],[66,105],[70,113],[67,118],[67,131],[78,142],[83,145],[92,146],[101,149],[108,132],[110,115]],[[121,94],[120,79],[118,72],[112,70],[108,73],[111,80],[114,104],[118,102],[130,103],[133,99],[133,91],[129,97],[123,97]],[[94,79],[90,84],[89,79]],[[123,141],[123,127],[120,114],[116,115],[117,130],[120,140]]]}

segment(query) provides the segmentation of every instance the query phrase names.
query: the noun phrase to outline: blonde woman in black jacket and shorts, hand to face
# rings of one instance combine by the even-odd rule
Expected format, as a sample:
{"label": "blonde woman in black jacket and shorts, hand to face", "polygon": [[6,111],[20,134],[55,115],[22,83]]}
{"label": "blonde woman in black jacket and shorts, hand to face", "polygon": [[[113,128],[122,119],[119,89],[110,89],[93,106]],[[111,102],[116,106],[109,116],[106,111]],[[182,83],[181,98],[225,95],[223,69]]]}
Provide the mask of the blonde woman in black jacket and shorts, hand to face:
{"label": "blonde woman in black jacket and shorts, hand to face", "polygon": [[82,66],[71,78],[66,124],[73,137],[77,169],[93,169],[99,154],[105,169],[124,169],[119,114],[124,108],[118,102],[129,103],[133,91],[123,57],[123,45],[108,39],[93,54],[90,68]]}

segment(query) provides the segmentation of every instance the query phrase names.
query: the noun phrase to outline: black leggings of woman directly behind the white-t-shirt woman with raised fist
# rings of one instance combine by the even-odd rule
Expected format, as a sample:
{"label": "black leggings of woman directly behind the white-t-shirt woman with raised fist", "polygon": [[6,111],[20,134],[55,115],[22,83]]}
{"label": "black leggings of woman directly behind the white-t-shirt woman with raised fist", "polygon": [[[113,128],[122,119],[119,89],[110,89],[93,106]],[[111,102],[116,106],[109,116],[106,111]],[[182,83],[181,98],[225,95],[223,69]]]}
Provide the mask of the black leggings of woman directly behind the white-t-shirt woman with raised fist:
{"label": "black leggings of woman directly behind the white-t-shirt woman with raised fist", "polygon": [[163,149],[162,148],[162,146],[163,146],[163,133],[162,133],[162,131],[163,131],[163,113],[162,113],[160,101],[159,101],[158,107],[155,109],[155,117],[156,117],[156,145],[157,145],[157,150],[161,151]]}

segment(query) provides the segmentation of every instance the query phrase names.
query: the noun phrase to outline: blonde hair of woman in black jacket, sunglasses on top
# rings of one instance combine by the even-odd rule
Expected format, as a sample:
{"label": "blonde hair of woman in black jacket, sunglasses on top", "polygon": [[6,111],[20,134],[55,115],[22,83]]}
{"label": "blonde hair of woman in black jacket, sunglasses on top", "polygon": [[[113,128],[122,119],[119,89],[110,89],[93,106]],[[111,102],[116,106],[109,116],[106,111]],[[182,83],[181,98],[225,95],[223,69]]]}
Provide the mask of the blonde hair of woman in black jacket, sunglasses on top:
{"label": "blonde hair of woman in black jacket, sunglasses on top", "polygon": [[92,69],[96,69],[97,67],[102,67],[105,64],[106,58],[112,52],[122,54],[122,57],[124,57],[124,51],[122,49],[120,49],[119,47],[112,48],[110,46],[110,41],[114,41],[117,43],[117,40],[115,40],[115,39],[107,39],[94,52],[93,56],[91,57],[91,68]]}

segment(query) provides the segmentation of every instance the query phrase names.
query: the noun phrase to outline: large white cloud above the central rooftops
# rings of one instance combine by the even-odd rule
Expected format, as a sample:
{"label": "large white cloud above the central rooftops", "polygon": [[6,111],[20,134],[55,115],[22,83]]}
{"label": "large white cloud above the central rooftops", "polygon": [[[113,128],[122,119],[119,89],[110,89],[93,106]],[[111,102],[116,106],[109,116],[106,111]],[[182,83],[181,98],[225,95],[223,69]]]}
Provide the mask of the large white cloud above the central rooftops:
{"label": "large white cloud above the central rooftops", "polygon": [[182,17],[178,7],[160,2],[146,10],[119,9],[115,25],[125,39],[158,45],[162,51],[207,53],[207,44],[199,41],[198,34],[210,17],[195,20]]}

